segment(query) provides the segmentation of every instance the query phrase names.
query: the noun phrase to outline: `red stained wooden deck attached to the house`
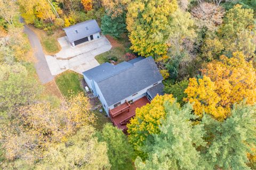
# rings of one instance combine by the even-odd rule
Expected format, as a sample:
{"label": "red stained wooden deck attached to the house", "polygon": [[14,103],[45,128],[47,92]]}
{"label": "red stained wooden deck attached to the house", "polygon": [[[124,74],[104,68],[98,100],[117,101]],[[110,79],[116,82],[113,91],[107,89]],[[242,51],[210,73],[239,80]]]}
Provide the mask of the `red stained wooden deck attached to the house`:
{"label": "red stained wooden deck attached to the house", "polygon": [[115,126],[121,128],[123,131],[126,131],[126,124],[129,123],[130,119],[135,116],[136,108],[145,106],[147,103],[150,103],[146,96],[140,98],[139,100],[134,101],[129,104],[127,102],[115,107],[110,110],[110,118]]}

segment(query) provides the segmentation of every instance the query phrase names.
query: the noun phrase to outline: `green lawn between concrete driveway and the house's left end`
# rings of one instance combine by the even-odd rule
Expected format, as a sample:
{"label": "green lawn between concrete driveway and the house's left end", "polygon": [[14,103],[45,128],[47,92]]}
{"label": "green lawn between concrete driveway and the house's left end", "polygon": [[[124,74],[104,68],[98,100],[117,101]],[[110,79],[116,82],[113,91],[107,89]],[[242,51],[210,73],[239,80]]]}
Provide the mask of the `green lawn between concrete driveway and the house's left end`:
{"label": "green lawn between concrete driveway and the house's left end", "polygon": [[58,75],[55,78],[55,82],[58,85],[62,95],[68,97],[69,91],[73,91],[75,94],[83,91],[80,85],[80,80],[82,78],[82,75],[79,75],[74,71],[67,70]]}

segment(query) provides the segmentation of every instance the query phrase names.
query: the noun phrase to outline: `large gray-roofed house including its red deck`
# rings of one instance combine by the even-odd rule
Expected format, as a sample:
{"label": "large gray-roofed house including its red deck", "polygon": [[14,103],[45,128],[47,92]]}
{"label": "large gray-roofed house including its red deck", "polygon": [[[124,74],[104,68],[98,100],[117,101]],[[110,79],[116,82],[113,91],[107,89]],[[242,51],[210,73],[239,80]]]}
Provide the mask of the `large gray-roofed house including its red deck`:
{"label": "large gray-roofed house including its red deck", "polygon": [[151,56],[117,65],[106,62],[83,75],[113,123],[123,130],[135,116],[136,108],[146,105],[157,94],[163,94],[163,77]]}

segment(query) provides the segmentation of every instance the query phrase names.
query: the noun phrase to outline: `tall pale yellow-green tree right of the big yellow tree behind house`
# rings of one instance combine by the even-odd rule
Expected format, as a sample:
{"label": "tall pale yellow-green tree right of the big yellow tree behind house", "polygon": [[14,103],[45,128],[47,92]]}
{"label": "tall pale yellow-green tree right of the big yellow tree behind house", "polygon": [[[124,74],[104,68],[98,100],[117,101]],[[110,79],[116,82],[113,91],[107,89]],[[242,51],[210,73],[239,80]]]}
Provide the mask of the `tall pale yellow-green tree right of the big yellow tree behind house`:
{"label": "tall pale yellow-green tree right of the big yellow tree behind house", "polygon": [[165,63],[165,68],[169,70],[171,78],[177,79],[187,74],[187,67],[195,58],[193,44],[196,34],[190,13],[180,9],[171,14],[170,26],[167,53],[170,60]]}

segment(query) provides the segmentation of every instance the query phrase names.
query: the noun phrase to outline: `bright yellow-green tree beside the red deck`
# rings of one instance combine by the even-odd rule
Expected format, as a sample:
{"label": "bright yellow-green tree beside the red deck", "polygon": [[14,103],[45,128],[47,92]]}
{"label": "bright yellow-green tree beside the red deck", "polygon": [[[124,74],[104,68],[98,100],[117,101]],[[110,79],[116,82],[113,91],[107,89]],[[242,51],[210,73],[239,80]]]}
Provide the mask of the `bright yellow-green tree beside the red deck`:
{"label": "bright yellow-green tree beside the red deck", "polygon": [[159,132],[161,119],[165,119],[166,117],[165,102],[174,102],[171,94],[155,96],[150,104],[138,108],[135,117],[131,119],[130,124],[127,124],[129,141],[133,145],[137,155],[145,156],[145,153],[141,151],[141,147],[149,135]]}

